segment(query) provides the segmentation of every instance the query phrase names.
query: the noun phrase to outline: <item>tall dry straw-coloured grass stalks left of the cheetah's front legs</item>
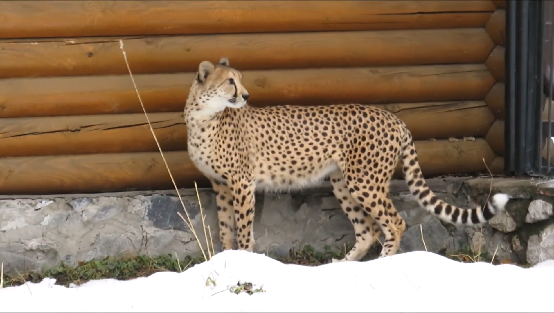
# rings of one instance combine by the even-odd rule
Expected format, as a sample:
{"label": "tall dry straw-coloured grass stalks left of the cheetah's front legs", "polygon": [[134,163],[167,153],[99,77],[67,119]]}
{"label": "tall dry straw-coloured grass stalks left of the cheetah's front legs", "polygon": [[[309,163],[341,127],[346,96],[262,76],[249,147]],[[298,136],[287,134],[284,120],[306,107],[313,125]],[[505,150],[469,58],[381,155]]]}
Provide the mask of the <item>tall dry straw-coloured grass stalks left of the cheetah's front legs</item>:
{"label": "tall dry straw-coloured grass stalks left of the cheetah's front legs", "polygon": [[[152,124],[150,123],[150,118],[148,118],[148,113],[146,112],[146,108],[145,108],[144,103],[142,102],[142,98],[140,96],[139,88],[137,88],[135,78],[133,77],[133,74],[131,72],[131,67],[129,66],[129,61],[127,60],[127,54],[125,53],[123,40],[121,40],[121,39],[119,40],[119,47],[120,47],[121,52],[123,54],[123,58],[125,59],[125,65],[127,66],[127,70],[129,71],[129,76],[131,77],[131,81],[133,83],[133,86],[135,87],[137,97],[139,97],[139,102],[140,102],[140,105],[142,107],[142,112],[144,112],[144,115],[146,117],[146,121],[148,122],[148,127],[150,127],[150,132],[152,133],[152,136],[154,137],[154,140],[156,142],[158,150],[160,151],[160,154],[161,154],[162,160],[163,160],[163,164],[166,166],[166,169],[167,169],[167,173],[170,174],[171,182],[173,183],[173,187],[175,188],[175,191],[177,192],[177,196],[179,197],[179,201],[181,201],[181,205],[183,206],[183,211],[184,211],[185,215],[187,216],[188,221],[184,219],[184,217],[181,215],[180,212],[177,212],[177,215],[179,217],[181,217],[181,219],[183,220],[185,225],[187,225],[188,228],[191,229],[191,232],[192,232],[194,238],[196,239],[196,242],[198,243],[198,246],[200,247],[200,250],[202,251],[202,255],[204,257],[204,260],[209,260],[209,259],[212,258],[212,255],[211,255],[210,249],[209,249],[208,236],[206,234],[206,226],[204,225],[204,215],[203,215],[203,211],[202,211],[202,203],[200,201],[200,196],[198,195],[198,188],[196,186],[196,182],[194,182],[194,189],[196,189],[196,193],[197,193],[197,196],[198,196],[198,205],[199,205],[200,214],[202,216],[202,226],[204,228],[204,237],[206,237],[206,243],[208,244],[208,247],[206,247],[207,252],[208,252],[208,257],[206,257],[206,252],[204,252],[204,248],[202,247],[202,244],[200,243],[200,239],[198,238],[196,230],[194,229],[194,227],[192,225],[191,217],[189,216],[187,208],[184,205],[183,199],[181,198],[181,194],[179,194],[179,190],[177,188],[177,184],[175,183],[175,179],[173,179],[173,175],[171,174],[171,170],[170,170],[169,166],[167,165],[165,155],[163,155],[162,148],[160,147],[160,142],[158,142],[158,138],[156,137],[156,133],[154,132],[154,128],[152,127]],[[213,251],[213,242],[212,242],[212,251]]]}

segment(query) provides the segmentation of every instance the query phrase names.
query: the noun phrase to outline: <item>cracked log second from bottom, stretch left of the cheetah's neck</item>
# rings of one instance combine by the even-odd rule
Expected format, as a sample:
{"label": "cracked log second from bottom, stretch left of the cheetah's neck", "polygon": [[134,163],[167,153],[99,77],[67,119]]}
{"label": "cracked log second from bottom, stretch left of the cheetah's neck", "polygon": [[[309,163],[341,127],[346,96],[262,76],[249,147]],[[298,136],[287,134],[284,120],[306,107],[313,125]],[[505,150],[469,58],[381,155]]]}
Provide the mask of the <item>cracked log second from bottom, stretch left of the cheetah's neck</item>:
{"label": "cracked log second from bottom, stretch left of the cheetah's neck", "polygon": [[[182,112],[148,118],[162,151],[186,150]],[[153,151],[143,113],[0,119],[0,157]]]}

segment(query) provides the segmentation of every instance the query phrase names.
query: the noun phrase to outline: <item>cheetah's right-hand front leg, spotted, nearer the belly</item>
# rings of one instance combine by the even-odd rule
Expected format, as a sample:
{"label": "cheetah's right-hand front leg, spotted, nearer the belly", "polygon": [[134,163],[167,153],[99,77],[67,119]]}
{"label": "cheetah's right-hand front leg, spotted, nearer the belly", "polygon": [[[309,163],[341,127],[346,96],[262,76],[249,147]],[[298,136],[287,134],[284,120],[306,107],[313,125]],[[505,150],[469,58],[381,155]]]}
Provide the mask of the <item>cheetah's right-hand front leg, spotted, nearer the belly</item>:
{"label": "cheetah's right-hand front leg, spotted, nearer the belly", "polygon": [[254,181],[241,179],[233,184],[231,191],[238,248],[252,252],[254,249]]}

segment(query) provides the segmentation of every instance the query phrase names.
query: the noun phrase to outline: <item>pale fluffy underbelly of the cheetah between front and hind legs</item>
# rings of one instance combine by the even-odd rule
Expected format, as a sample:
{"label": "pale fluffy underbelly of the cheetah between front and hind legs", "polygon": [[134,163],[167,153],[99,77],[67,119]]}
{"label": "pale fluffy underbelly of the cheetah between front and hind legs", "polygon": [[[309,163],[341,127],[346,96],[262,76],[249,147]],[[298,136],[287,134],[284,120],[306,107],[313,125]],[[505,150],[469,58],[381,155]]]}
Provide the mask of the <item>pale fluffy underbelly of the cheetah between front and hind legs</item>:
{"label": "pale fluffy underbelly of the cheetah between front and hind legs", "polygon": [[[289,174],[288,170],[280,171],[280,168],[269,172],[257,168],[255,169],[255,173],[257,173],[256,189],[279,192],[318,186],[329,174],[338,170],[337,164],[331,160],[326,163],[315,164],[314,167],[315,170],[312,170],[311,173],[304,171],[295,172],[293,175]],[[260,172],[263,174],[260,174]],[[300,177],[298,174],[301,174]]]}

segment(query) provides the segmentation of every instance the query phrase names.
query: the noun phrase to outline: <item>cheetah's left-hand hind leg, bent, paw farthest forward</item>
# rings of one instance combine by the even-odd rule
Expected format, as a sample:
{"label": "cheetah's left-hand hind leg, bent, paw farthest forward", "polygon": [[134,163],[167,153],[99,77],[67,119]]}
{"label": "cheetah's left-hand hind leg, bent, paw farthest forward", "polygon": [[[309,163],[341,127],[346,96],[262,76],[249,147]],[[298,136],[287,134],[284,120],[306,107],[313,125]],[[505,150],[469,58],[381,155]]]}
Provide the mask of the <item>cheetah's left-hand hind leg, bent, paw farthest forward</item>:
{"label": "cheetah's left-hand hind leg, bent, paw farthest forward", "polygon": [[381,228],[356,200],[348,192],[345,180],[342,178],[340,171],[334,171],[329,175],[329,180],[333,187],[333,193],[340,203],[342,210],[345,212],[348,220],[352,222],[354,232],[356,234],[356,243],[344,258],[332,259],[332,263],[345,261],[359,261],[363,258],[373,243],[379,238]]}

